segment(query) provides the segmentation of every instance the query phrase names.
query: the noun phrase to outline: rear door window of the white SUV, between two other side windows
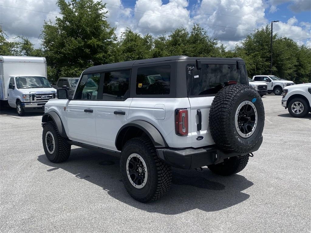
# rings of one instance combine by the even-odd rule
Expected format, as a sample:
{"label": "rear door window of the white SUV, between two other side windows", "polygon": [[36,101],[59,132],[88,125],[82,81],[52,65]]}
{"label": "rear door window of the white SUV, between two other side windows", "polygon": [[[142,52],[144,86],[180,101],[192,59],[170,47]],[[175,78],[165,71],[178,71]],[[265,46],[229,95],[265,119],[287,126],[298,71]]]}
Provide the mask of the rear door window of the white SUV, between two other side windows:
{"label": "rear door window of the white SUV, between two other side windows", "polygon": [[128,98],[130,70],[105,73],[103,99],[116,100]]}

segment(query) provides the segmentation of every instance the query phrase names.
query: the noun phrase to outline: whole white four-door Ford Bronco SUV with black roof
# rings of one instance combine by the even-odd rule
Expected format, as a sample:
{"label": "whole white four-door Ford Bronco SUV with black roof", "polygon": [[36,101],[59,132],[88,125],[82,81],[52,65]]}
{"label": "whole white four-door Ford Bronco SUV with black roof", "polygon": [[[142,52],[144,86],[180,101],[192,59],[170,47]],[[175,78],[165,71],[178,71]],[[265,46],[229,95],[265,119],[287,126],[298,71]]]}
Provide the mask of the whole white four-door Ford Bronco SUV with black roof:
{"label": "whole white four-door Ford Bronco SUV with black roof", "polygon": [[[86,85],[92,82],[94,85]],[[160,57],[93,66],[72,99],[57,90],[42,117],[43,148],[63,162],[71,145],[120,156],[123,184],[160,199],[171,167],[242,171],[262,144],[264,108],[240,58]]]}

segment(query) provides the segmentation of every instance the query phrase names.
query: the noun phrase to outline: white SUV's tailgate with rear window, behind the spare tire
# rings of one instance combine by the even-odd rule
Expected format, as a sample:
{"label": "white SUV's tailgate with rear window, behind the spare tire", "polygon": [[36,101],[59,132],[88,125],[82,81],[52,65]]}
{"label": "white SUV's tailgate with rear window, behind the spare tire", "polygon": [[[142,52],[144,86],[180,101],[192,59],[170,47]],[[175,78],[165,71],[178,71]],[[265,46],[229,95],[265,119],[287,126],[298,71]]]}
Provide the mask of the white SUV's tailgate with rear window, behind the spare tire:
{"label": "white SUV's tailgate with rear window, behind the spare tire", "polygon": [[[235,60],[212,61],[197,69],[196,64],[187,64],[187,93],[190,102],[192,147],[215,144],[211,137],[209,113],[218,91],[228,81],[248,85],[245,65]],[[225,63],[225,64],[224,64]]]}

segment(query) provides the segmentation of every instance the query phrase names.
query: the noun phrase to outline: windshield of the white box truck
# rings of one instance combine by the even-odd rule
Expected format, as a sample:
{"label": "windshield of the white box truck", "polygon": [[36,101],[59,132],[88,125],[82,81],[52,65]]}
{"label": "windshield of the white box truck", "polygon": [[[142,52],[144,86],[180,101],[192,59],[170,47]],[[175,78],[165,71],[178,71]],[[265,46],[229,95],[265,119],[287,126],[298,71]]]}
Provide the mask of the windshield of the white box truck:
{"label": "windshield of the white box truck", "polygon": [[45,77],[22,76],[16,77],[17,88],[48,88],[52,87]]}

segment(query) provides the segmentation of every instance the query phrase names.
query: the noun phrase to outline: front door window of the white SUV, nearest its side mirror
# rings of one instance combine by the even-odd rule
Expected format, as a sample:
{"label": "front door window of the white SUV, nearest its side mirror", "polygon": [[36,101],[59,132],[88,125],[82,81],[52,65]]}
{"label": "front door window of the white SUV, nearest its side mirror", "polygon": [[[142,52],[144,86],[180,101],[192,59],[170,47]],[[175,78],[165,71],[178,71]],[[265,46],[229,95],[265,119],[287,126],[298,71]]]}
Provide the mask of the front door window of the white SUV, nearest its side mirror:
{"label": "front door window of the white SUV, nearest its side mirror", "polygon": [[97,99],[100,74],[83,75],[75,99]]}

